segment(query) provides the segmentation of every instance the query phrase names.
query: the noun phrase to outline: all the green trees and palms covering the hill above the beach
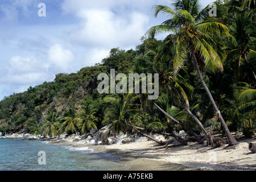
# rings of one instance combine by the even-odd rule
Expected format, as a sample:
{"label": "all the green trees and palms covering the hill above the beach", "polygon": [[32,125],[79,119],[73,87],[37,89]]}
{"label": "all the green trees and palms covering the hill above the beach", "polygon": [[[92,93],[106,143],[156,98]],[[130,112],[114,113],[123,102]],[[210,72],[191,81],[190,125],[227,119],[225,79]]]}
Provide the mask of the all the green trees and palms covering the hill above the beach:
{"label": "all the green trees and palms covering the hill above the beach", "polygon": [[[117,132],[145,136],[177,138],[175,132],[185,130],[199,143],[207,135],[212,146],[214,130],[230,146],[237,143],[230,131],[250,138],[256,126],[255,1],[218,0],[217,17],[198,3],[176,0],[174,10],[155,5],[155,16],[170,19],[150,28],[135,50],[113,48],[101,63],[5,97],[0,132],[81,135],[110,124]],[[161,32],[170,35],[156,40]],[[158,73],[158,100],[148,100],[148,93],[98,93],[97,76],[110,69]]]}

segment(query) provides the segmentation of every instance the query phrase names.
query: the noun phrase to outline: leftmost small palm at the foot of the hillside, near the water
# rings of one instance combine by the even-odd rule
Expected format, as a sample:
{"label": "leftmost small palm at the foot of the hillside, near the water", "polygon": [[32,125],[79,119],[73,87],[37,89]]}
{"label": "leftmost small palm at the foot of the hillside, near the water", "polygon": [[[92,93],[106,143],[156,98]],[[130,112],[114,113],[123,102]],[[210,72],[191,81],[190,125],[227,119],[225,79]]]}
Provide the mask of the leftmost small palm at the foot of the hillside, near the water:
{"label": "leftmost small palm at the foot of the hillside, near the water", "polygon": [[42,126],[44,130],[44,137],[49,135],[49,137],[56,137],[59,135],[58,130],[60,131],[60,123],[58,122],[59,118],[56,118],[55,112],[50,112],[46,117],[46,124]]}

